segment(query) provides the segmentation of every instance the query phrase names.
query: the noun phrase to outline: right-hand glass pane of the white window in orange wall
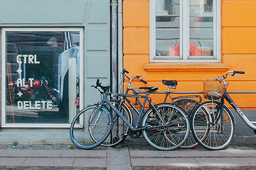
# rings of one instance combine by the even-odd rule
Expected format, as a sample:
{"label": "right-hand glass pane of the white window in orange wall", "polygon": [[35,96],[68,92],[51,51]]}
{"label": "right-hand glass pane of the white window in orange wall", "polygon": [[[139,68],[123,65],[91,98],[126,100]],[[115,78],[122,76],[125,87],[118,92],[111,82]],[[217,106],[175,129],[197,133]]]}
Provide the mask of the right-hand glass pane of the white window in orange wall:
{"label": "right-hand glass pane of the white window in orange wall", "polygon": [[189,56],[213,56],[213,0],[189,1]]}

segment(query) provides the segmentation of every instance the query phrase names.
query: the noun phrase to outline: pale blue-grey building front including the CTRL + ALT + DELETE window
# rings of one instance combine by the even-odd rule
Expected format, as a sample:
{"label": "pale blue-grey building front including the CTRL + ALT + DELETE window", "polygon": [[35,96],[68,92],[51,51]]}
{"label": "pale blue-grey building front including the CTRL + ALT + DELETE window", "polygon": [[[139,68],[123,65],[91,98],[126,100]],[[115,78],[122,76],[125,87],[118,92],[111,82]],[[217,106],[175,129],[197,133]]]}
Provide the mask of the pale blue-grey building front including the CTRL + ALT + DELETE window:
{"label": "pale blue-grey building front including the CTRL + ALT + DELETE window", "polygon": [[110,1],[1,1],[0,8],[1,127],[68,128],[100,98],[90,86],[110,82]]}

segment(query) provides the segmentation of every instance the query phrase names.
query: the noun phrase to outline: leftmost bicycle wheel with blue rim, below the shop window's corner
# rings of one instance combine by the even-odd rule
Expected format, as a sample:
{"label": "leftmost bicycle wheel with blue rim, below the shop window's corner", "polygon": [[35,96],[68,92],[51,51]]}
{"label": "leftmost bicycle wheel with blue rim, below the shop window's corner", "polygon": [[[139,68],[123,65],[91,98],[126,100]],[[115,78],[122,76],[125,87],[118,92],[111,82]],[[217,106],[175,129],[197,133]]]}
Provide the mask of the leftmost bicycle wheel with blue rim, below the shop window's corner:
{"label": "leftmost bicycle wheel with blue rim, below the shop window's corner", "polygon": [[89,149],[100,145],[109,135],[113,125],[112,114],[97,105],[83,109],[71,123],[69,135],[73,144],[79,148]]}

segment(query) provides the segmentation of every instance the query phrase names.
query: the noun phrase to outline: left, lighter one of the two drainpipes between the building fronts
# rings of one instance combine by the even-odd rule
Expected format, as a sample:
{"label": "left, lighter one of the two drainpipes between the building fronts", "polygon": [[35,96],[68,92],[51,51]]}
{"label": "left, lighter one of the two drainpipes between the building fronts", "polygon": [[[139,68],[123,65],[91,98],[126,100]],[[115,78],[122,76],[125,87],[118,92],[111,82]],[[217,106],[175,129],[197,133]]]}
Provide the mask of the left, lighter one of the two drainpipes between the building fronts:
{"label": "left, lighter one of the two drainpipes between the building fronts", "polygon": [[112,0],[112,91],[118,92],[117,0]]}

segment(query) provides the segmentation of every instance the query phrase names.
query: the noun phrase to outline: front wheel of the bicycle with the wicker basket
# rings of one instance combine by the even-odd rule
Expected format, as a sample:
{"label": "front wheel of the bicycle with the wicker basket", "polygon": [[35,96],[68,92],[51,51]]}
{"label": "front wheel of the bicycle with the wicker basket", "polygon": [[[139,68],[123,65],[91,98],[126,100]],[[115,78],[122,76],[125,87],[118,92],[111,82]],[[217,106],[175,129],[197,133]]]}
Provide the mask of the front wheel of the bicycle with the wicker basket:
{"label": "front wheel of the bicycle with the wicker basket", "polygon": [[226,105],[224,105],[220,120],[214,123],[220,106],[219,101],[206,101],[197,106],[192,113],[192,134],[196,141],[208,150],[225,149],[234,135],[233,114]]}

